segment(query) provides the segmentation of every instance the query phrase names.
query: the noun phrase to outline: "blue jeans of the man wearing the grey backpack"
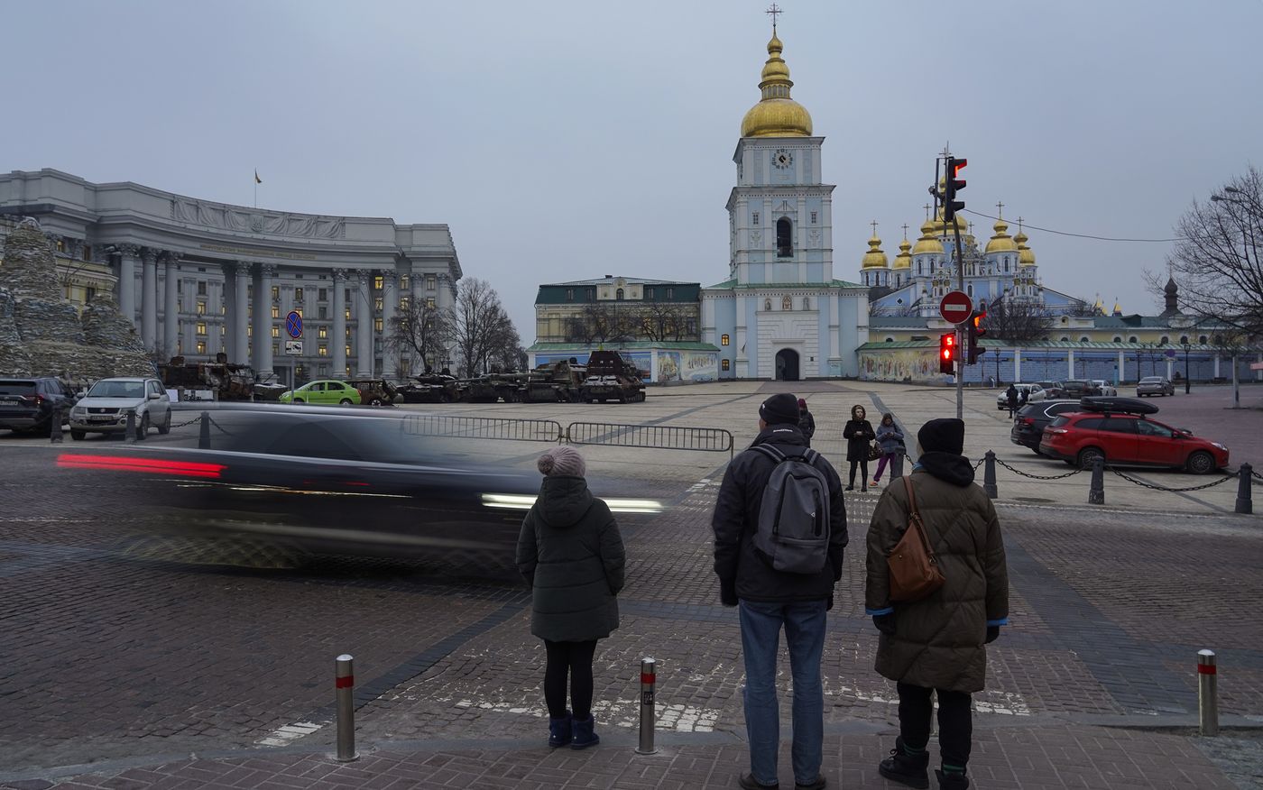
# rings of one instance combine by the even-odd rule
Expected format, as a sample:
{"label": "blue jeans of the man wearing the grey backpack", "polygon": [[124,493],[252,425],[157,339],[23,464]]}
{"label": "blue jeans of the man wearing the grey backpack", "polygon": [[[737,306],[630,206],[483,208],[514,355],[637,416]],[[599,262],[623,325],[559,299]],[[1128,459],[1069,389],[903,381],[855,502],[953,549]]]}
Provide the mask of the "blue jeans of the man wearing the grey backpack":
{"label": "blue jeans of the man wearing the grey backpack", "polygon": [[741,601],[741,654],[745,656],[745,733],[754,780],[777,781],[781,707],[777,702],[777,649],[781,627],[789,646],[793,675],[793,776],[816,781],[825,748],[825,689],[820,656],[825,649],[825,602],[760,603]]}

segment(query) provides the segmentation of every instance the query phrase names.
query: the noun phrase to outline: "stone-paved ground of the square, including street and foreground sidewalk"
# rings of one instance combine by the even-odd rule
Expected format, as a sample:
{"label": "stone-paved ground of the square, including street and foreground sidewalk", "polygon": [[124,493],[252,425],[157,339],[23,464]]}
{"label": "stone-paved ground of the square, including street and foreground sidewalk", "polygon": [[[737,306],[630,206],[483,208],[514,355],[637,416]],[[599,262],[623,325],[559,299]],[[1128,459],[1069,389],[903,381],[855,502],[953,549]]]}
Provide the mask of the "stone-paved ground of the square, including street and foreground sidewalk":
{"label": "stone-paved ground of the square, including street and foreground sidewalk", "polygon": [[[807,398],[813,444],[844,477],[853,404],[893,411],[913,433],[955,413],[950,390],[842,381],[407,410],[725,428],[741,448],[774,391]],[[1263,389],[1243,389],[1244,405],[1260,400]],[[1228,444],[1233,469],[1263,461],[1263,410],[1226,410],[1228,387],[1157,405],[1158,419]],[[1106,504],[1089,506],[1085,473],[1012,471],[1072,469],[1010,444],[994,391],[967,391],[965,419],[966,454],[994,449],[1008,464],[997,506],[1012,583],[1012,625],[975,697],[975,786],[1263,786],[1263,516],[1233,514],[1236,481],[1166,492],[1108,475]],[[196,428],[149,442],[196,442]],[[96,445],[117,443],[0,437],[13,459],[0,472],[0,787],[724,787],[746,766],[736,615],[719,604],[710,560],[727,452],[582,448],[597,496],[667,507],[620,519],[623,625],[595,661],[602,743],[551,752],[524,587],[441,560],[296,564],[261,546],[160,538],[109,478],[53,463]],[[544,447],[475,440],[465,452],[525,469]],[[1166,488],[1224,477],[1128,475]],[[863,615],[860,546],[879,495],[847,495],[851,549],[823,668],[835,787],[894,786],[875,772],[893,743],[894,688],[873,671],[877,631]],[[1194,734],[1204,647],[1219,656],[1220,738]],[[328,756],[340,652],[356,657],[361,758],[350,763]],[[643,656],[659,666],[652,756],[634,751]],[[788,753],[781,779],[792,786]]]}

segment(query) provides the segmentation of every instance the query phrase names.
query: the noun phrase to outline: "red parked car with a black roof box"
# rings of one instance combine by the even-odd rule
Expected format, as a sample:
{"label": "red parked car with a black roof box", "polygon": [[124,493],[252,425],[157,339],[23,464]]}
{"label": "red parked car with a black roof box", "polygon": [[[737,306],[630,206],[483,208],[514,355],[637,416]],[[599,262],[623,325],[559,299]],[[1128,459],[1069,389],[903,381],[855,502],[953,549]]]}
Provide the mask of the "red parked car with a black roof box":
{"label": "red parked car with a black roof box", "polygon": [[1085,398],[1084,410],[1057,416],[1043,429],[1039,452],[1090,469],[1098,458],[1127,466],[1183,468],[1209,475],[1228,466],[1228,448],[1147,415],[1157,406],[1133,398]]}

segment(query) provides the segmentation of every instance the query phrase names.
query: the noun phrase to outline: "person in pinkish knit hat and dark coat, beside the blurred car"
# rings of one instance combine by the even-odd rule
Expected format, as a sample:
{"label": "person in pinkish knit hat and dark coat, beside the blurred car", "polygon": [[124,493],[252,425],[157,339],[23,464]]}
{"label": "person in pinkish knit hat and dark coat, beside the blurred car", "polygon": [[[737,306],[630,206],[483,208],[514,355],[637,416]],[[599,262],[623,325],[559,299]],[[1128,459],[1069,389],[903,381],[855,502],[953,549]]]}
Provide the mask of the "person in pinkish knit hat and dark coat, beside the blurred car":
{"label": "person in pinkish knit hat and dark coat, beside the blurred car", "polygon": [[530,632],[547,654],[548,746],[586,748],[601,740],[592,721],[592,656],[596,640],[619,627],[626,555],[609,506],[587,490],[578,451],[554,447],[536,466],[544,480],[522,521],[518,569],[530,584]]}

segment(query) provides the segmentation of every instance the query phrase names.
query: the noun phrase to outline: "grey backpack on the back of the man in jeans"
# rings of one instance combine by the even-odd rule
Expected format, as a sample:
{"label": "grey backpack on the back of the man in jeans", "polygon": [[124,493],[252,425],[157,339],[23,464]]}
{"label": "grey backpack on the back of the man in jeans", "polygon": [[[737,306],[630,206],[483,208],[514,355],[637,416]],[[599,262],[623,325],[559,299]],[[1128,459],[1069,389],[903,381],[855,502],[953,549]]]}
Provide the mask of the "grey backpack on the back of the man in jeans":
{"label": "grey backpack on the back of the man in jeans", "polygon": [[775,462],[763,490],[754,549],[775,570],[820,573],[829,559],[829,480],[813,449],[786,456],[770,444],[755,449]]}

